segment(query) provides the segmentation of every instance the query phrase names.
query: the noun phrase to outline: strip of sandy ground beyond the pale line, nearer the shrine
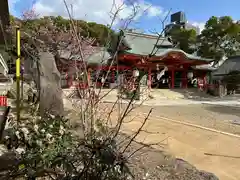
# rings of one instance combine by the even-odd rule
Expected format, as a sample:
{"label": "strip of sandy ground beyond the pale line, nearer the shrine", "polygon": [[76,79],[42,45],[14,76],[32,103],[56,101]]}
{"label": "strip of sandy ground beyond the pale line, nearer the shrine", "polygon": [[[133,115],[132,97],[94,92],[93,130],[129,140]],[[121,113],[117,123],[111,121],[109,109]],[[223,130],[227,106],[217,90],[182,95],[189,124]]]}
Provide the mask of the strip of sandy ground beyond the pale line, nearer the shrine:
{"label": "strip of sandy ground beyond the pale line, nearer the shrine", "polygon": [[[141,106],[136,112],[147,113],[151,107]],[[240,120],[240,107],[230,105],[181,105],[154,106],[151,117],[167,117],[170,119],[189,122],[220,131],[240,134],[240,125],[233,121]]]}

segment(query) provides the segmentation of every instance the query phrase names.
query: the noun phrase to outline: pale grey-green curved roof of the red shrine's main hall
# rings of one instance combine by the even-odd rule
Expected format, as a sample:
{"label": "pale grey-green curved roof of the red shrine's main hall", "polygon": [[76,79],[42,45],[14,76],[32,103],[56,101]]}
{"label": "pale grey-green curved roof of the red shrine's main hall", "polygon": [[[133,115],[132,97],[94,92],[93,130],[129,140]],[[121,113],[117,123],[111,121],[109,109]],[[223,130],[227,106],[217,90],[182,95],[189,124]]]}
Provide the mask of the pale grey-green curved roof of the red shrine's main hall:
{"label": "pale grey-green curved roof of the red shrine's main hall", "polygon": [[140,33],[124,32],[124,45],[128,46],[125,53],[147,56],[154,49],[155,56],[165,56],[169,53],[182,53],[190,60],[213,61],[213,59],[202,58],[193,54],[188,54],[181,49],[173,48],[168,38],[147,35]]}

